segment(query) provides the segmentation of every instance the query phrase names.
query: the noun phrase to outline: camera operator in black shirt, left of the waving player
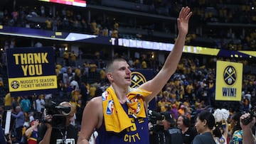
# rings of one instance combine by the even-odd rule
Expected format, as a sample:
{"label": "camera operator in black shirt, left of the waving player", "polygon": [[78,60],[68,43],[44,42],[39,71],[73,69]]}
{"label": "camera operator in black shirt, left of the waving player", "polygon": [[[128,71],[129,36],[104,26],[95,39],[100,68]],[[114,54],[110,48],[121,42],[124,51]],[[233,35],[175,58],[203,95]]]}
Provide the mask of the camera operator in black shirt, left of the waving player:
{"label": "camera operator in black shirt, left of the waving player", "polygon": [[69,108],[68,113],[59,109],[59,113],[61,113],[65,118],[65,123],[55,126],[55,124],[53,123],[56,123],[56,121],[60,121],[61,117],[59,115],[57,117],[57,114],[46,114],[46,111],[44,111],[43,115],[45,115],[45,121],[43,121],[43,124],[38,128],[37,141],[39,144],[77,143],[78,131],[73,125],[70,124],[74,116],[75,109],[67,101],[63,101],[55,107],[58,108],[60,106],[62,108]]}

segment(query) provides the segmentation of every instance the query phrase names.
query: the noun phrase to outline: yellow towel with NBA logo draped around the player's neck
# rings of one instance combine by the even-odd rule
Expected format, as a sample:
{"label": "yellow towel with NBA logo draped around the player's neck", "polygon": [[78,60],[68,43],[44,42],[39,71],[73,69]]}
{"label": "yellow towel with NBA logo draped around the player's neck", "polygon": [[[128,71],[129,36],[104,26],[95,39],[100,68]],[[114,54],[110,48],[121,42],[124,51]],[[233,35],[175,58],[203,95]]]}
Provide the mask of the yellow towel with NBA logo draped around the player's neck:
{"label": "yellow towel with NBA logo draped around the player's neck", "polygon": [[[131,89],[127,94],[127,106],[129,111],[133,113],[134,118],[146,118],[142,96],[148,96],[149,94],[151,92],[143,89]],[[132,126],[132,121],[119,103],[112,87],[108,87],[102,93],[102,106],[106,131],[119,133]]]}

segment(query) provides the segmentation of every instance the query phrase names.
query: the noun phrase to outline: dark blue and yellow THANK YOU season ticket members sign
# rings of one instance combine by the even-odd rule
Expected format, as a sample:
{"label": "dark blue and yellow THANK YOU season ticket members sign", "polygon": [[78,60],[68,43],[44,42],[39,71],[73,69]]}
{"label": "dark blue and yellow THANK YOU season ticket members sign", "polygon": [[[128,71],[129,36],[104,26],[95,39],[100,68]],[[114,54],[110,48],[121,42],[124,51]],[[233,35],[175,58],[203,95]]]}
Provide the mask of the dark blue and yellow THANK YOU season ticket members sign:
{"label": "dark blue and yellow THANK YOU season ticket members sign", "polygon": [[56,92],[53,48],[10,48],[6,50],[6,56],[11,96]]}

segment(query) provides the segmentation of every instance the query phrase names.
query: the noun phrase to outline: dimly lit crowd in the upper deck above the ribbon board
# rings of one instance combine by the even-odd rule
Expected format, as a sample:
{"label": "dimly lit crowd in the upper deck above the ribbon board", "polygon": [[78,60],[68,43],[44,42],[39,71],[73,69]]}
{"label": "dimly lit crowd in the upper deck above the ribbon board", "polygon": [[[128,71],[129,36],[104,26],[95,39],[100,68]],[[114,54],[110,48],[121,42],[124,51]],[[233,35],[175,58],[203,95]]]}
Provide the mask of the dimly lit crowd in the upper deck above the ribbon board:
{"label": "dimly lit crowd in the upper deck above the ribbon board", "polygon": [[[191,6],[193,18],[191,20],[191,35],[188,35],[188,45],[199,45],[196,38],[210,38],[211,48],[221,48],[228,50],[255,50],[255,1],[137,1],[144,5],[153,5],[154,13],[163,15],[158,9],[165,8],[167,16],[176,16],[181,6]],[[40,3],[38,3],[40,4]],[[87,1],[87,4],[100,5],[99,1]],[[14,5],[14,4],[13,4]],[[103,5],[104,6],[104,5]],[[9,9],[7,9],[9,8]],[[12,9],[14,8],[14,9]],[[125,8],[124,8],[125,9]],[[119,33],[118,27],[129,26],[131,28],[146,29],[148,35],[136,33],[131,38],[149,38],[154,31],[169,32],[170,26],[164,26],[164,23],[149,20],[146,24],[139,25],[139,18],[136,21],[124,21],[121,19],[112,19],[112,16],[100,15],[98,12],[84,11],[74,7],[63,7],[33,5],[23,6],[17,4],[14,6],[1,7],[0,23],[7,26],[22,26],[26,28],[43,28],[51,31],[75,31],[79,33],[92,33],[95,35],[105,35],[112,37],[122,37],[126,33]],[[139,11],[139,10],[138,10]],[[151,13],[151,11],[146,11]],[[97,13],[97,14],[94,14]],[[105,17],[105,18],[103,18]],[[150,18],[149,18],[150,19]],[[212,23],[213,26],[210,26]],[[228,24],[223,28],[223,23]],[[245,25],[247,26],[245,26]],[[250,24],[250,25],[248,25]],[[161,25],[161,26],[160,26]],[[205,40],[206,40],[205,39]],[[154,40],[154,38],[153,38]],[[208,41],[208,40],[206,40]],[[203,41],[201,41],[203,42]],[[201,45],[203,45],[201,43]]]}

